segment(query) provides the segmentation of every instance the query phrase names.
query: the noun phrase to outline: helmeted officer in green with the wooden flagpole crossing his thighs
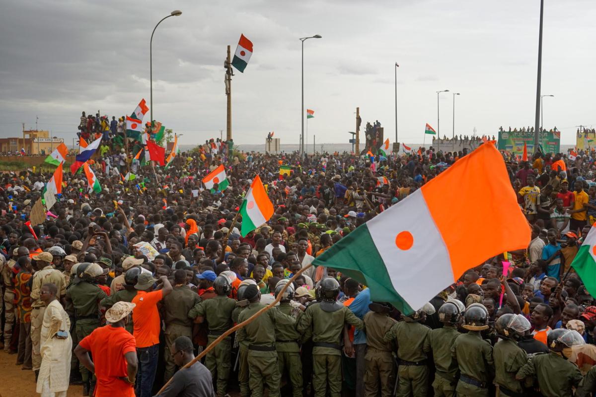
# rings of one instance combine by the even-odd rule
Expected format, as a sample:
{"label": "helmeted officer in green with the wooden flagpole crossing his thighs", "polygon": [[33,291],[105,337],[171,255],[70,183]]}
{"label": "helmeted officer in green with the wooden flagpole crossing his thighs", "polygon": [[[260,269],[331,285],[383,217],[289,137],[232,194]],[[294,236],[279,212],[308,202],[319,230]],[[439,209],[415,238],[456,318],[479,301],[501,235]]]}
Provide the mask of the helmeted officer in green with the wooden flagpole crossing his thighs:
{"label": "helmeted officer in green with the wooden flagpole crossing his thighs", "polygon": [[[218,296],[198,303],[188,312],[188,317],[194,318],[195,323],[201,324],[203,321],[207,321],[209,326],[207,346],[232,327],[232,311],[236,307],[236,301],[228,298],[228,294],[232,291],[232,285],[225,276],[218,276],[213,281],[213,289]],[[228,336],[219,342],[213,350],[207,353],[205,359],[206,367],[209,368],[213,377],[217,377],[218,397],[224,397],[228,388],[232,349],[230,339]]]}

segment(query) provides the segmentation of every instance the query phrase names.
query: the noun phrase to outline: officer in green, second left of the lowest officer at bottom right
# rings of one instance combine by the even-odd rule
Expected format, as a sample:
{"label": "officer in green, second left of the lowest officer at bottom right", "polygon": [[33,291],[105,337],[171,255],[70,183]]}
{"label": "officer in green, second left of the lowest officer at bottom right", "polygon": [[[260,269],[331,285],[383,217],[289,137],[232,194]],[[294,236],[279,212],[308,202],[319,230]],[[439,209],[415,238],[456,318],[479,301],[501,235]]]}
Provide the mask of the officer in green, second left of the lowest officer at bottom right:
{"label": "officer in green, second left of the lowest officer at bottom right", "polygon": [[482,339],[480,331],[488,329],[488,311],[481,304],[471,304],[464,315],[464,333],[455,338],[451,347],[460,368],[460,380],[455,387],[458,397],[488,397],[494,366],[492,346]]}

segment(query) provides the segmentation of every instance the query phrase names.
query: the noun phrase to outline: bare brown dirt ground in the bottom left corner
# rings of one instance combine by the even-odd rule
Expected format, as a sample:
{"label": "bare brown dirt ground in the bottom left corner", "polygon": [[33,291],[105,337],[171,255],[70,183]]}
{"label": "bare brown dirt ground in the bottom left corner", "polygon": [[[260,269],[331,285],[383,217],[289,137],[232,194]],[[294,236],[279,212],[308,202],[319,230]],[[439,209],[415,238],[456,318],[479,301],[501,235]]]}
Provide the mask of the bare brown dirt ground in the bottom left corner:
{"label": "bare brown dirt ground in the bottom left corner", "polygon": [[[20,365],[14,365],[17,355],[0,351],[0,397],[35,397],[35,375],[31,370],[21,370]],[[69,396],[83,394],[82,386],[70,386]]]}

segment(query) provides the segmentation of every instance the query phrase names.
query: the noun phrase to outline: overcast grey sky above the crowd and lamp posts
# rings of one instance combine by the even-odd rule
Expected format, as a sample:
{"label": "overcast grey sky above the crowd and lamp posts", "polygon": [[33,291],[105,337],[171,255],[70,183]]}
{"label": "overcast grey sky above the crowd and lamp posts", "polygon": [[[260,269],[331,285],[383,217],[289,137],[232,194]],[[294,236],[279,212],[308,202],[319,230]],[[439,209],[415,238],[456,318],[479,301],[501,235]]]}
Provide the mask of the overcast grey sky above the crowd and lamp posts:
{"label": "overcast grey sky above the crowd and lamp posts", "polygon": [[[578,124],[596,127],[596,2],[545,1],[544,124],[575,143]],[[395,140],[420,143],[437,127],[437,90],[460,92],[455,130],[490,135],[533,126],[539,0],[8,1],[0,0],[0,136],[48,129],[72,143],[80,112],[130,114],[149,103],[153,40],[154,118],[183,144],[226,128],[224,68],[240,34],[253,56],[232,80],[237,143],[281,143],[300,134],[300,40],[305,42],[309,142],[347,142],[360,107],[363,126],[379,120]],[[451,136],[453,96],[440,95],[440,135]],[[148,116],[146,118],[148,120]]]}

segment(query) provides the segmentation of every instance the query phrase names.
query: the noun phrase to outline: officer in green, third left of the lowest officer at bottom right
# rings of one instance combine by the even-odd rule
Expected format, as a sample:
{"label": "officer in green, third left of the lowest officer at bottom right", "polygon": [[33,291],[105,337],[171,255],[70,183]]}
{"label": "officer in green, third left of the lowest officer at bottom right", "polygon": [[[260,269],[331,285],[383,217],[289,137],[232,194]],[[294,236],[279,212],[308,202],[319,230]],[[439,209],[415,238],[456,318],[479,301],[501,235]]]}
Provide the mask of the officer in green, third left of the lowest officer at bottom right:
{"label": "officer in green, third left of the lowest officer at bottom right", "polygon": [[[465,310],[465,307],[462,305]],[[451,357],[451,346],[460,336],[457,326],[461,321],[460,307],[455,302],[447,301],[439,308],[439,321],[442,328],[430,332],[430,348],[433,351],[434,373],[433,389],[436,397],[455,396],[457,383],[457,362]]]}

